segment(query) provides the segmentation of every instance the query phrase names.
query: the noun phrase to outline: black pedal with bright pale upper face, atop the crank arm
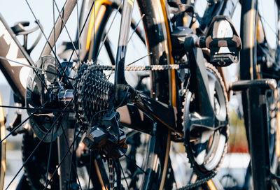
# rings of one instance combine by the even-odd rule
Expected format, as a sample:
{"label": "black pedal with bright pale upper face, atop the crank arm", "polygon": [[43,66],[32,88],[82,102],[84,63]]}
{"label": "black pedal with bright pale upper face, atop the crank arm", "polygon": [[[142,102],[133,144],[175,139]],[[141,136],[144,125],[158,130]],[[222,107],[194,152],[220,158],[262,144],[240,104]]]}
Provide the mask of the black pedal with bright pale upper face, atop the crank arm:
{"label": "black pedal with bright pale upper face, atop the crank arm", "polygon": [[200,38],[200,47],[210,50],[210,62],[214,66],[228,66],[239,62],[241,39],[230,17],[215,16],[207,30],[207,35]]}

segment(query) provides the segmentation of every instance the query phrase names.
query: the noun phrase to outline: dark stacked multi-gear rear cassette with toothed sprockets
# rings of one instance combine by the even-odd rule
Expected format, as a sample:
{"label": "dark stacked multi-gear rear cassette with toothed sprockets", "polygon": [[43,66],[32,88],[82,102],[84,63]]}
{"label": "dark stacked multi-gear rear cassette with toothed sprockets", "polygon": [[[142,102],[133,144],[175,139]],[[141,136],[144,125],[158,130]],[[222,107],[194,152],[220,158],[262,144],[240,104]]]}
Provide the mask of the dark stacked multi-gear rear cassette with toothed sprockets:
{"label": "dark stacked multi-gear rear cassette with toothed sprockets", "polygon": [[92,126],[109,109],[113,84],[102,71],[87,64],[79,67],[76,81],[73,92],[76,117],[83,124]]}

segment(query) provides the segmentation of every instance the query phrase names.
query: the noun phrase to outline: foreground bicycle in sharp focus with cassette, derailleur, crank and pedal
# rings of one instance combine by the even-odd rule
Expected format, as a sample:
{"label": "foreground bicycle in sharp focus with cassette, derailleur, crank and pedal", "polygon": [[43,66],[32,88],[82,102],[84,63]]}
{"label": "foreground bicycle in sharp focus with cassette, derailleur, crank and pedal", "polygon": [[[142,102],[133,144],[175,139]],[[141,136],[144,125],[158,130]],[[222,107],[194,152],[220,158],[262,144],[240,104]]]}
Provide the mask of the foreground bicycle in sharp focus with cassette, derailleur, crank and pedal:
{"label": "foreground bicycle in sharp focus with cassette, derailleur, crank and pedal", "polygon": [[[53,2],[55,7],[55,1]],[[107,21],[107,10],[109,15],[114,7],[116,9],[115,13],[120,12],[121,3],[116,5],[109,3],[109,1],[101,2],[100,5],[105,8],[103,12],[105,16],[102,15],[105,22]],[[52,49],[52,47],[55,46],[55,41],[64,27],[64,22],[68,19],[74,6],[76,6],[76,1],[66,1],[62,9],[65,13],[63,15],[64,19],[61,19],[62,15],[59,14],[55,29],[48,38],[40,59],[35,64],[15,36],[10,35],[13,41],[18,43],[20,52],[31,67],[27,80],[27,107],[22,107],[22,109],[27,109],[27,112],[29,112],[30,126],[37,137],[32,137],[29,145],[34,142],[38,142],[38,144],[35,145],[34,150],[30,151],[31,154],[27,155],[36,155],[35,159],[41,159],[40,155],[34,154],[34,152],[43,141],[49,142],[43,144],[45,147],[41,148],[50,149],[49,154],[45,155],[48,160],[34,162],[45,163],[45,171],[41,170],[44,173],[43,178],[41,178],[43,180],[35,180],[35,182],[39,182],[39,187],[43,185],[44,189],[66,189],[66,187],[71,189],[80,187],[81,189],[77,173],[80,164],[88,167],[87,172],[85,172],[85,175],[90,176],[87,179],[88,189],[92,185],[100,189],[113,189],[115,187],[121,189],[125,186],[127,186],[127,189],[137,187],[142,189],[171,189],[174,185],[176,186],[168,156],[171,139],[175,142],[186,143],[190,161],[200,177],[195,184],[189,184],[186,188],[195,187],[214,177],[227,149],[228,116],[226,105],[228,95],[223,85],[223,78],[216,68],[211,64],[204,65],[201,47],[211,49],[211,59],[213,58],[211,62],[216,66],[219,64],[225,66],[238,61],[241,43],[230,20],[227,17],[216,17],[212,26],[209,27],[207,38],[211,38],[215,43],[208,43],[204,38],[197,41],[196,36],[187,28],[178,28],[171,34],[172,28],[170,28],[165,1],[139,1],[139,8],[144,15],[142,17],[144,29],[147,33],[146,45],[150,51],[148,56],[151,66],[126,66],[126,68],[152,71],[152,87],[150,90],[141,84],[141,80],[147,78],[144,75],[140,78],[136,89],[127,85],[124,72],[125,52],[127,43],[130,41],[129,31],[134,1],[123,1],[116,61],[113,61],[115,59],[109,53],[109,44],[106,45],[108,31],[104,35],[104,25],[99,24],[97,28],[100,34],[97,32],[91,38],[87,38],[85,48],[87,51],[81,53],[83,56],[76,54],[76,45],[72,43],[73,51],[71,51],[70,57],[76,54],[76,59],[79,60],[77,61],[78,64],[69,61],[60,63],[55,49]],[[94,6],[97,6],[96,3],[92,3],[90,8],[90,10],[93,10],[93,15],[96,14]],[[102,8],[98,9],[97,13]],[[95,21],[95,18],[93,20]],[[37,19],[36,21],[38,22]],[[1,22],[5,23],[2,18]],[[237,38],[235,40],[232,40],[232,37],[216,38],[215,34],[212,33],[216,22],[230,24],[230,29]],[[25,25],[25,23],[20,24]],[[4,26],[8,34],[13,34],[8,26],[5,24]],[[38,28],[41,29],[39,23]],[[134,28],[134,31],[138,32],[138,36],[141,38],[137,26]],[[83,31],[83,26],[78,27],[78,37],[81,34],[80,29]],[[92,28],[89,27],[89,29]],[[93,31],[95,29],[93,24]],[[111,25],[109,29],[111,29]],[[102,34],[104,38],[102,43],[99,44]],[[100,35],[100,38],[97,37],[98,35]],[[181,38],[183,38],[183,43]],[[184,41],[185,38],[186,41]],[[217,45],[220,41],[226,41],[227,43]],[[94,47],[99,47],[99,45],[101,47],[103,45],[107,46],[106,50],[111,64],[116,64],[114,84],[109,82],[102,71],[106,69],[114,70],[115,66],[96,64],[96,62],[99,63],[98,57],[101,50]],[[230,47],[230,54],[220,54],[215,49],[219,49],[221,46]],[[80,47],[80,38],[78,38],[78,47]],[[174,52],[172,52],[172,49]],[[92,52],[89,53],[89,50],[92,50]],[[51,52],[53,56],[46,55]],[[193,64],[186,64],[186,59],[183,58],[186,52],[188,52],[188,62]],[[93,60],[82,64],[80,60],[84,60],[86,54],[92,56]],[[0,56],[1,61],[4,60],[2,64],[5,61],[6,64],[12,61],[2,54]],[[175,64],[175,61],[178,62]],[[179,68],[182,72],[181,76],[175,71]],[[10,85],[13,87],[15,94],[18,95],[19,101],[22,105],[25,105],[25,93],[22,90],[22,85],[18,82],[20,78],[8,73],[12,69],[3,69],[3,73],[6,72],[6,77],[10,80]],[[76,76],[75,72],[77,72]],[[74,77],[76,81],[71,82]],[[199,79],[199,82],[197,82],[197,79]],[[166,96],[167,94],[168,96]],[[201,96],[202,94],[207,94],[207,96]],[[184,107],[183,102],[185,102]],[[123,107],[123,105],[126,106]],[[122,111],[127,112],[127,110],[121,109],[127,109],[130,113],[131,119],[129,122],[125,121],[125,117],[122,117]],[[184,111],[181,112],[181,109]],[[76,113],[76,117],[73,117],[73,112]],[[64,115],[64,118],[59,119],[62,115]],[[176,119],[176,117],[180,118],[182,115],[183,121]],[[61,124],[62,126],[60,126]],[[67,124],[67,129],[64,129],[64,124]],[[17,131],[20,126],[21,124],[14,126],[11,133]],[[127,131],[125,127],[129,127],[132,131]],[[77,129],[79,129],[78,132]],[[139,134],[138,131],[144,132],[144,136]],[[84,133],[84,135],[81,136],[81,133]],[[130,137],[129,134],[131,136],[137,134],[135,138],[132,138],[132,142],[128,142],[131,149],[127,149],[125,143],[125,139]],[[25,138],[29,137],[26,136]],[[139,140],[139,138],[141,140],[139,147],[146,149],[146,155],[144,154],[146,160],[141,166],[135,164],[135,158],[130,157],[139,156],[137,149],[134,149],[137,143],[133,142]],[[57,150],[52,145],[56,139]],[[205,147],[205,143],[208,144],[207,147]],[[78,148],[75,149],[75,146]],[[218,146],[218,149],[215,148],[216,146]],[[27,145],[24,147],[27,147]],[[76,154],[67,155],[71,151]],[[83,153],[77,155],[77,151]],[[50,158],[53,152],[65,154],[58,156],[58,162],[57,160],[52,162]],[[130,154],[125,155],[125,152]],[[121,156],[125,156],[125,161],[122,162],[122,159],[119,159]],[[31,156],[25,157],[22,168],[30,158]],[[92,163],[92,158],[94,158],[94,163]],[[102,160],[106,160],[106,163],[102,163]],[[69,161],[69,163],[63,161]],[[108,168],[106,168],[106,164],[108,164]],[[124,171],[122,164],[133,167],[125,167],[129,169]],[[62,169],[60,169],[60,174],[57,175],[59,167]],[[26,166],[25,168],[27,169]],[[139,175],[139,173],[142,174]],[[97,176],[98,179],[92,175]],[[130,179],[127,181],[127,178]],[[31,178],[29,177],[29,179]]]}

